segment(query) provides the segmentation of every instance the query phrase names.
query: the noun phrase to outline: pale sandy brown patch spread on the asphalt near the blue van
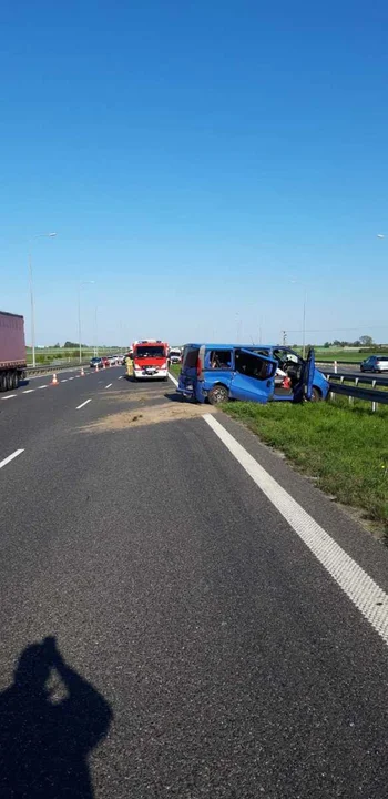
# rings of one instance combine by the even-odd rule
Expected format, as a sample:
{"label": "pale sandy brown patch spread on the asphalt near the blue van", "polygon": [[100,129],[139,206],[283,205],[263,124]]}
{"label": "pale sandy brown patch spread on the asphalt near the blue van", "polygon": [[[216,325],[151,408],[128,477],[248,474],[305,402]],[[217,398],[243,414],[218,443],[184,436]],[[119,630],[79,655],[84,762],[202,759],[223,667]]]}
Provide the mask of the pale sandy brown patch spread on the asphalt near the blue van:
{"label": "pale sandy brown patch spread on the asphalt near the blue van", "polygon": [[119,413],[109,414],[86,425],[83,431],[85,433],[108,433],[176,419],[198,418],[205,413],[215,413],[215,409],[204,405],[169,402],[162,405],[146,405],[137,411],[119,411]]}

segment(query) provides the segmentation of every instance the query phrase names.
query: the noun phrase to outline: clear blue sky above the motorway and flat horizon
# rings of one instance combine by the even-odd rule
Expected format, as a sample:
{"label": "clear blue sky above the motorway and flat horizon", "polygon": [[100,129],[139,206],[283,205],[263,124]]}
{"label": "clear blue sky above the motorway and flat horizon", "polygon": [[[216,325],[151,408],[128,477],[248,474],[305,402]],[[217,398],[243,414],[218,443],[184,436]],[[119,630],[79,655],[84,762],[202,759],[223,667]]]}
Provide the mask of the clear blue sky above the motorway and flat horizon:
{"label": "clear blue sky above the motorway and flat horizon", "polygon": [[[37,341],[388,341],[382,0],[4,0],[0,307]],[[340,332],[341,328],[354,328]],[[289,341],[300,341],[292,333]]]}

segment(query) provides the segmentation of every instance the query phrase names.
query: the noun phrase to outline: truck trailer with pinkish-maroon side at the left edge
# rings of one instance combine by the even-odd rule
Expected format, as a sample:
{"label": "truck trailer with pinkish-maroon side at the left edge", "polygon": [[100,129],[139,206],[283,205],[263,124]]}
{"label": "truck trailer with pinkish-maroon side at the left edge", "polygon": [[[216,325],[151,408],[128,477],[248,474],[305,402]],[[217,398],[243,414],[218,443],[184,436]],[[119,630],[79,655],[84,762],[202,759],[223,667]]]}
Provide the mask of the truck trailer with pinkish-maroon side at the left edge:
{"label": "truck trailer with pinkish-maroon side at the left edge", "polygon": [[25,370],[24,320],[0,311],[0,392],[18,388]]}

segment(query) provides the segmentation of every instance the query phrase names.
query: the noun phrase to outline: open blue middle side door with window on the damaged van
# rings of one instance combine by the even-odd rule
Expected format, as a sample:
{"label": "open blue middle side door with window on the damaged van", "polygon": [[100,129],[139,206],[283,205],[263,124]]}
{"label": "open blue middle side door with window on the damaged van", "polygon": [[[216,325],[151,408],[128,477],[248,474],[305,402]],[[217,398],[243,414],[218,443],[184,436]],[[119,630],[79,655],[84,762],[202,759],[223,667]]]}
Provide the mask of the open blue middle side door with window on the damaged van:
{"label": "open blue middle side door with window on the damaged van", "polygon": [[275,391],[277,361],[249,350],[235,350],[232,400],[266,403]]}

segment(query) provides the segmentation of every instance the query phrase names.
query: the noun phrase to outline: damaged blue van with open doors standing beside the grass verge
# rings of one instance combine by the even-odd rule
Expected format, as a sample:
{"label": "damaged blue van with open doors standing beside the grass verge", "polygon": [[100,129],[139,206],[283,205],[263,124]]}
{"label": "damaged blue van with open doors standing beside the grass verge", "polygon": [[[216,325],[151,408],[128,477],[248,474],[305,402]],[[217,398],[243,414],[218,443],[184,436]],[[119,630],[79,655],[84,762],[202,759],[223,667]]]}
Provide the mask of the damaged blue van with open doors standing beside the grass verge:
{"label": "damaged blue van with open doors standing beside the grass verge", "polygon": [[177,391],[211,405],[228,400],[303,402],[326,400],[329,384],[315,366],[278,345],[186,344]]}

